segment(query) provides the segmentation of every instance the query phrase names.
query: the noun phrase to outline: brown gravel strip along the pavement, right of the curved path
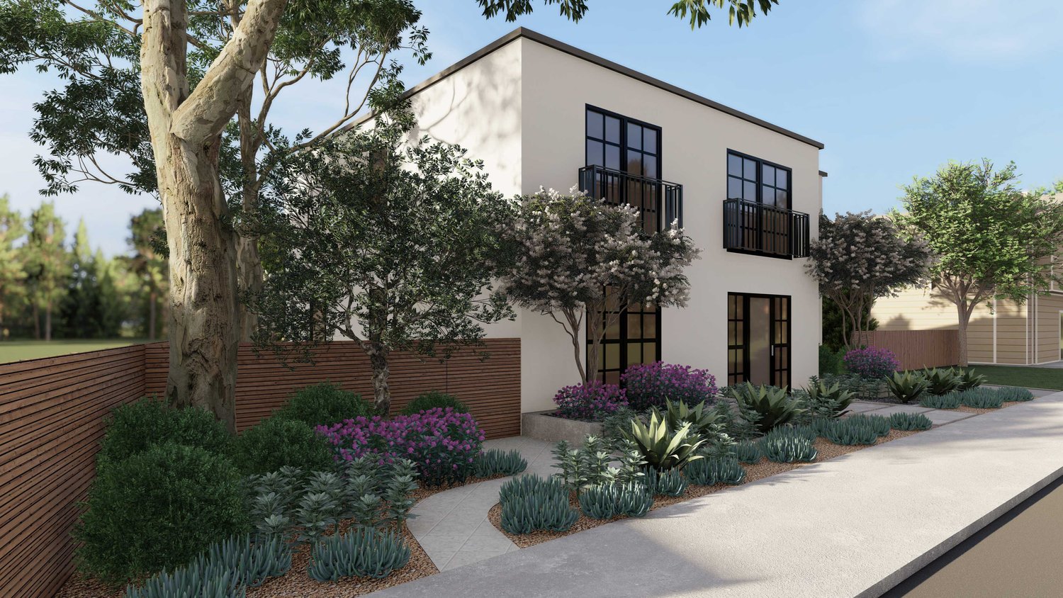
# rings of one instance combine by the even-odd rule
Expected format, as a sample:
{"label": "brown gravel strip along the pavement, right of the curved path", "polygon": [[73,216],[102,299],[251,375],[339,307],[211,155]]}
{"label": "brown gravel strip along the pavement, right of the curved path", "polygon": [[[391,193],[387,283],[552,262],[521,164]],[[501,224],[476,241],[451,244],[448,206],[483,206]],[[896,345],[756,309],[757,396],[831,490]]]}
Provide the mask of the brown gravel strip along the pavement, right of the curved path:
{"label": "brown gravel strip along the pavement, right of the curved path", "polygon": [[[890,430],[890,434],[878,439],[877,444],[882,444],[890,442],[891,440],[896,440],[898,438],[905,438],[917,433],[916,431],[908,430]],[[872,445],[859,445],[859,446],[842,446],[833,444],[825,439],[816,439],[815,448],[819,451],[814,462],[826,461],[828,459],[833,459],[848,452],[854,452],[860,450],[861,448],[866,448]],[[795,469],[808,463],[775,463],[766,459],[761,459],[760,463],[754,464],[742,464],[742,468],[745,469],[745,480],[742,482],[748,483],[759,479],[766,478],[769,476],[774,476],[775,474],[781,474],[782,472],[789,472],[790,469]],[[741,485],[741,484],[739,484]],[[699,496],[705,496],[707,494],[712,494],[713,492],[720,492],[722,490],[727,490],[731,486],[727,484],[716,484],[716,485],[688,485],[686,492],[680,496],[655,496],[654,506],[649,508],[651,511],[654,509],[659,509],[661,507],[668,507],[669,505],[675,505],[676,502],[682,502],[685,500],[690,500],[691,498],[697,498]],[[570,503],[575,509],[579,509],[579,503],[576,501],[575,496],[570,499]],[[576,533],[586,529],[595,528],[597,526],[614,522],[623,517],[615,517],[612,519],[592,519],[587,515],[580,513],[579,518],[576,523],[569,528],[568,531],[556,532],[556,531],[535,531],[527,534],[511,534],[504,529],[502,529],[502,506],[495,505],[491,508],[487,515],[488,519],[491,522],[499,531],[506,535],[513,544],[521,548],[527,548],[528,546],[535,546],[536,544],[542,544],[543,542],[554,540],[556,537],[561,537],[572,533]]]}

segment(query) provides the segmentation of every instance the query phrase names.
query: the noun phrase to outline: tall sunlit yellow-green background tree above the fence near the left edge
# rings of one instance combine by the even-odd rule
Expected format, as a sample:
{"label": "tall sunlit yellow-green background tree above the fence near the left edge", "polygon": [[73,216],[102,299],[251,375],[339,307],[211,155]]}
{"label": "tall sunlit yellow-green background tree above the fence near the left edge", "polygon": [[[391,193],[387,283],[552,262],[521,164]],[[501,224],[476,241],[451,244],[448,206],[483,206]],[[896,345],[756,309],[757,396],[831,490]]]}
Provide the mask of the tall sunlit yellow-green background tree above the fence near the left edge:
{"label": "tall sunlit yellow-green background tree above the fence near the left edge", "polygon": [[35,337],[40,338],[40,312],[44,311],[44,339],[52,340],[52,312],[66,294],[70,261],[66,249],[63,220],[55,215],[55,204],[45,202],[30,215],[30,234],[26,241],[26,271],[30,302],[33,306]]}

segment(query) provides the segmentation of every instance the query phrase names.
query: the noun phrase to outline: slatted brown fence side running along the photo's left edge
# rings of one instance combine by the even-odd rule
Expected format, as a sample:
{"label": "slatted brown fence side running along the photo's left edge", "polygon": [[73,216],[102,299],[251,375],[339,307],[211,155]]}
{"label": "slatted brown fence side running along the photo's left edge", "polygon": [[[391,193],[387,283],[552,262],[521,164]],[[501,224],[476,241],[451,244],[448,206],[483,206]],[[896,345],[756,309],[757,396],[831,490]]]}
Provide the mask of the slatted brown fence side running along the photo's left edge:
{"label": "slatted brown fence side running along the photo's left edge", "polygon": [[0,595],[51,596],[73,571],[70,530],[103,421],[144,395],[145,346],[0,364]]}

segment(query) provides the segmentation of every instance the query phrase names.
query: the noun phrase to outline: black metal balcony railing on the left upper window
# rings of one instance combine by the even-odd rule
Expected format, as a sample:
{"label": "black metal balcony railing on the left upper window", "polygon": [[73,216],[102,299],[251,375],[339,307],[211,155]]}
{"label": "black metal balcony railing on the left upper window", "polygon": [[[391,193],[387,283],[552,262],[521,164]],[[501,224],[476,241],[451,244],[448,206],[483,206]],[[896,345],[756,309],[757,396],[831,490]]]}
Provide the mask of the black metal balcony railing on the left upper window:
{"label": "black metal balcony railing on the left upper window", "polygon": [[677,183],[586,166],[579,169],[579,189],[611,204],[638,208],[643,230],[663,230],[675,220],[682,226],[682,185]]}

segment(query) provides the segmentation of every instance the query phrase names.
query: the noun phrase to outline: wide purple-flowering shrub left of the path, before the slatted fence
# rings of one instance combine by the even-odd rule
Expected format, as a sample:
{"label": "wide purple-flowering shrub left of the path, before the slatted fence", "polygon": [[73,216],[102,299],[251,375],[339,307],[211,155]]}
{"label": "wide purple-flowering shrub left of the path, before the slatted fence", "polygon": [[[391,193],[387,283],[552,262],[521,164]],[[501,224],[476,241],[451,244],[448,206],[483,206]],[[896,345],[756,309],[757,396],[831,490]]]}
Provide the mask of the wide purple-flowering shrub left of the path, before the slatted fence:
{"label": "wide purple-flowering shrub left of the path, before the slatted fence", "polygon": [[484,432],[468,413],[436,407],[412,415],[379,415],[345,420],[341,424],[318,426],[332,444],[337,461],[373,456],[381,463],[409,459],[417,465],[425,485],[460,483],[473,468],[480,452]]}

